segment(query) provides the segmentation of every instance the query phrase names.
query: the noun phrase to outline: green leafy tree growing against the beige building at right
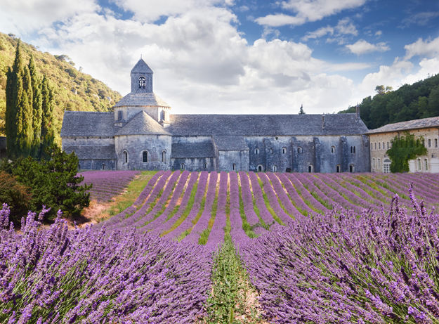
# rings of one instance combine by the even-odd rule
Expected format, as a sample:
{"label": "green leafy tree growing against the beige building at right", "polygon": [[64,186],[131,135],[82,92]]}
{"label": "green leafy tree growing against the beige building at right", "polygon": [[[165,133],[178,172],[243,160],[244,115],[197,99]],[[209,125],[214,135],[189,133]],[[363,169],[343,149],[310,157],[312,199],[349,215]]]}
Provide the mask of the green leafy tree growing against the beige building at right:
{"label": "green leafy tree growing against the beige building at right", "polygon": [[403,136],[393,138],[392,147],[386,154],[391,159],[392,172],[408,172],[409,160],[426,155],[427,149],[422,143],[424,138],[414,138],[414,134],[408,132]]}

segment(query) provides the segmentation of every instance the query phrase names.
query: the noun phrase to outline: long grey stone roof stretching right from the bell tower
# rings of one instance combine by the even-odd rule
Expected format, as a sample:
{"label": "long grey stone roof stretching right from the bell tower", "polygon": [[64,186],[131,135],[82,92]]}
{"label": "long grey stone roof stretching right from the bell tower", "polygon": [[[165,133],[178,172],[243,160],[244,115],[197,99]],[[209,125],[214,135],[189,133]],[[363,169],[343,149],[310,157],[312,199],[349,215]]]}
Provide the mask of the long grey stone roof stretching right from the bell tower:
{"label": "long grey stone roof stretching right from the bell tower", "polygon": [[[325,117],[325,127],[323,127]],[[325,136],[365,134],[352,114],[332,115],[171,115],[167,129],[177,136]]]}

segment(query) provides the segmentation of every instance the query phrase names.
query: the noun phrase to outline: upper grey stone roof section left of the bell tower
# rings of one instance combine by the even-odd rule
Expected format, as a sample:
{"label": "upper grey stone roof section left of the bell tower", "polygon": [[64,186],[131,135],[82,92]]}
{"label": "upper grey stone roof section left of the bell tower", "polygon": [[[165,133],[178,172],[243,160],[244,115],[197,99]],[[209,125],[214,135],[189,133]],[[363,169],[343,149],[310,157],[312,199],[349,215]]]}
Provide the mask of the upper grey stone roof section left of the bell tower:
{"label": "upper grey stone roof section left of the bell tower", "polygon": [[112,137],[115,132],[113,112],[64,112],[61,137]]}

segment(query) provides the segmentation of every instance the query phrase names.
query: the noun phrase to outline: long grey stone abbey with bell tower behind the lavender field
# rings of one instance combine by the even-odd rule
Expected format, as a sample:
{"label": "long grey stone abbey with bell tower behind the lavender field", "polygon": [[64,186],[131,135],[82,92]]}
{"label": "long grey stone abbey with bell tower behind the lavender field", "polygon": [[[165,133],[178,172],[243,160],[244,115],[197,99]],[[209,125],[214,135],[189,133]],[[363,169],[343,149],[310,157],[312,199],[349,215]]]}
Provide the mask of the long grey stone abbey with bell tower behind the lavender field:
{"label": "long grey stone abbey with bell tower behind the lavender field", "polygon": [[131,93],[114,112],[66,111],[63,150],[79,169],[190,171],[370,171],[359,113],[337,115],[172,115],[152,91],[140,59]]}

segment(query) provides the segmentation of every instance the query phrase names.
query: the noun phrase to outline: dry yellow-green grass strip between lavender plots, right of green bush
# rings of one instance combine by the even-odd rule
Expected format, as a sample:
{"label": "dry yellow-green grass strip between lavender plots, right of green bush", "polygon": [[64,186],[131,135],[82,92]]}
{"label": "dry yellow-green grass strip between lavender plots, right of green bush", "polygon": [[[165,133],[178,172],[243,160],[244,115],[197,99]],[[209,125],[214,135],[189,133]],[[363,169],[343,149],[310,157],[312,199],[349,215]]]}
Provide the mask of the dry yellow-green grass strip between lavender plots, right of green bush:
{"label": "dry yellow-green grass strip between lavender plots, right of green bush", "polygon": [[133,202],[136,201],[137,197],[156,173],[157,171],[142,171],[135,176],[126,188],[126,191],[122,195],[114,197],[114,201],[110,203],[110,206],[99,214],[98,221],[105,221],[133,205]]}

